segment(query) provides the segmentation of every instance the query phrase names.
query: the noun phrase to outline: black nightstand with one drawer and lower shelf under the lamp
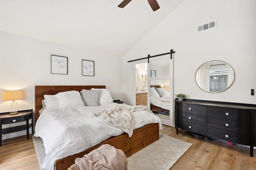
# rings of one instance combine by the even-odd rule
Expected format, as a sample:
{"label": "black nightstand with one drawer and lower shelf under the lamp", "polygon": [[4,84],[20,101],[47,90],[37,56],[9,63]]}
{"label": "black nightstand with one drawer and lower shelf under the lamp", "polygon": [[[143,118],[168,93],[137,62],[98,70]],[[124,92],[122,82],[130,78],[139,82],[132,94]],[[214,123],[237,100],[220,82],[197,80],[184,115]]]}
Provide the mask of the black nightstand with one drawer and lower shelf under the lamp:
{"label": "black nightstand with one drawer and lower shelf under the lamp", "polygon": [[[31,119],[31,122],[32,122],[30,124],[28,123],[29,119]],[[8,128],[2,129],[2,125],[4,124],[17,123],[22,121],[26,121],[26,125],[20,125],[20,126],[14,126],[14,127],[8,127]],[[27,139],[29,139],[29,128],[32,127],[32,133],[34,132],[33,109],[18,111],[18,114],[16,115],[9,115],[9,112],[0,113],[0,127],[1,127],[0,128],[0,146],[2,146],[2,134],[27,130]]]}

